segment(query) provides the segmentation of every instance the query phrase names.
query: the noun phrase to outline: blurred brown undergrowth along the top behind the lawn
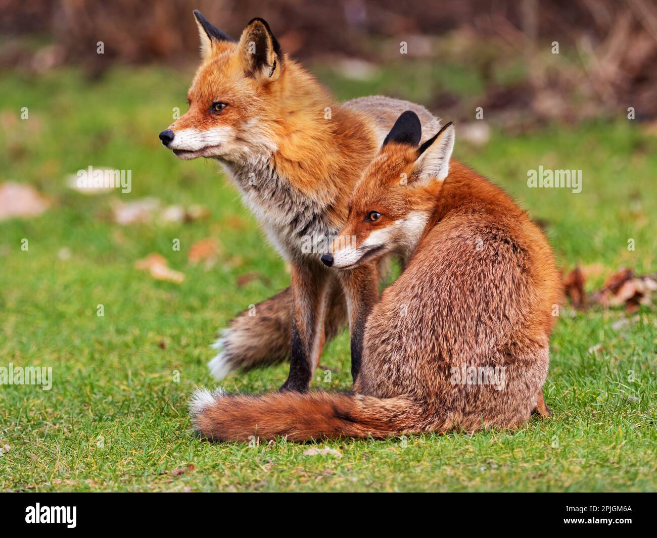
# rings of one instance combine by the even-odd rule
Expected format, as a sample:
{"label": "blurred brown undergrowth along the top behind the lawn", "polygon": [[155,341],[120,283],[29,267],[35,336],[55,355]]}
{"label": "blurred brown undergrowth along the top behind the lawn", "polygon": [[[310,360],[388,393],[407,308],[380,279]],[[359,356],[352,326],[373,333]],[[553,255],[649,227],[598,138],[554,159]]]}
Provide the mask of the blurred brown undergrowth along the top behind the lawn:
{"label": "blurred brown undergrowth along the top behind the lawn", "polygon": [[[284,51],[385,93],[399,84],[386,84],[378,66],[403,61],[422,101],[455,119],[474,102],[495,114],[522,113],[507,118],[516,125],[627,106],[642,118],[657,114],[653,0],[0,0],[0,66],[43,72],[74,64],[93,79],[114,64],[193,62],[193,9],[233,37],[261,16]],[[439,62],[454,66],[445,80]]]}

